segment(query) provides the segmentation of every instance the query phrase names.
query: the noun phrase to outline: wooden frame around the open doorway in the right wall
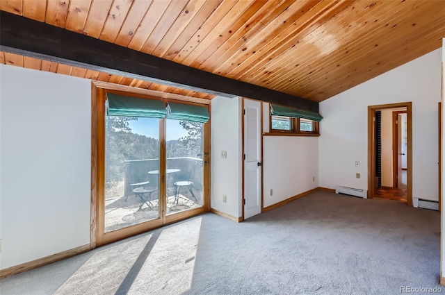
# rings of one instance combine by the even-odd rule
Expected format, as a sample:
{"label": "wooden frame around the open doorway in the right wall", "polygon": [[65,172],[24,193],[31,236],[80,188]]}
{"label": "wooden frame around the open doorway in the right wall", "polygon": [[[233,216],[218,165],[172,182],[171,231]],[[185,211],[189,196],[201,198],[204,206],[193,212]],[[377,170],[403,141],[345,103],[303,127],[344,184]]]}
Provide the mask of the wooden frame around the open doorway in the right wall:
{"label": "wooden frame around the open doorway in the right wall", "polygon": [[412,102],[368,106],[368,198],[375,194],[375,111],[389,108],[406,108],[407,112],[407,204],[412,206]]}

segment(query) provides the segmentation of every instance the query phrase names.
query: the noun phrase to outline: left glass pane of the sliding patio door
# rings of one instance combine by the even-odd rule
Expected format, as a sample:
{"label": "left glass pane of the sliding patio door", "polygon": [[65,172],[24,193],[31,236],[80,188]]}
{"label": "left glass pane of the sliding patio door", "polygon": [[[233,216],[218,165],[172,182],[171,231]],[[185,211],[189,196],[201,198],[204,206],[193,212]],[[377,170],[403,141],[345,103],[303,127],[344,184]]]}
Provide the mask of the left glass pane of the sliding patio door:
{"label": "left glass pane of the sliding patio door", "polygon": [[159,119],[106,116],[105,233],[159,218]]}

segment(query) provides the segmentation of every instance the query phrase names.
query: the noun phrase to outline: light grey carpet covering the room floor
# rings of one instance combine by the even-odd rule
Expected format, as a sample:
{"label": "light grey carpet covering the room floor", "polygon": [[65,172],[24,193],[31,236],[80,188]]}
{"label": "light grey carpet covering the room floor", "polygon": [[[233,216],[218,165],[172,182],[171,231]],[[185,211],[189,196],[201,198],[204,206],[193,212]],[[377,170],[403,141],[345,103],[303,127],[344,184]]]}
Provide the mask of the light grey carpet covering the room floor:
{"label": "light grey carpet covering the room floor", "polygon": [[439,223],[397,201],[315,192],[241,224],[203,214],[4,278],[1,294],[445,292]]}

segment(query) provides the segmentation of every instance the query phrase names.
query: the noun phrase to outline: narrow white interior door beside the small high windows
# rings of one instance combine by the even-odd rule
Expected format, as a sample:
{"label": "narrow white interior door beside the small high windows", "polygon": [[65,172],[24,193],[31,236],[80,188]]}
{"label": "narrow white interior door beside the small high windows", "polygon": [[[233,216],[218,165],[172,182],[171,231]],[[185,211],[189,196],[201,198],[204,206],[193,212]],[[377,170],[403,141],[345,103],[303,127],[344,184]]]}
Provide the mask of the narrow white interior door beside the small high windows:
{"label": "narrow white interior door beside the small high windows", "polygon": [[244,99],[244,219],[261,213],[261,103]]}

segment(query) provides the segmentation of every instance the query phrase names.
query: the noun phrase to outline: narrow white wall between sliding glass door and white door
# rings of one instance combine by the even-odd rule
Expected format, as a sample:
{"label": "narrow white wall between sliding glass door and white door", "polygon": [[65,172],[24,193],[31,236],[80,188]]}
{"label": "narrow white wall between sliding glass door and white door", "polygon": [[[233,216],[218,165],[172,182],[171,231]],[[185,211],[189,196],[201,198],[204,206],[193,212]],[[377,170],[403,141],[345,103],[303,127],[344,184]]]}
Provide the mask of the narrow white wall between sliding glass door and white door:
{"label": "narrow white wall between sliding glass door and white door", "polygon": [[[241,98],[211,101],[211,208],[241,217]],[[227,151],[227,158],[221,158]],[[223,194],[227,203],[223,203]]]}

